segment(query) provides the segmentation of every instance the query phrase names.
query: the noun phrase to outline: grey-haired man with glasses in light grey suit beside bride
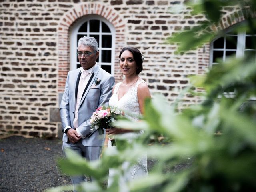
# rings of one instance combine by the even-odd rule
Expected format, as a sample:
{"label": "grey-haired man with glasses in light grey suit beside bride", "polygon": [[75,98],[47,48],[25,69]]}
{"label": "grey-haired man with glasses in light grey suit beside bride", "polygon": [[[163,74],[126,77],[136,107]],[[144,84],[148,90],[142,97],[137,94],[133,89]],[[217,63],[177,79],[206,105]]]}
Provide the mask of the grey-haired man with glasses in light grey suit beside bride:
{"label": "grey-haired man with glasses in light grey suit beside bride", "polygon": [[[78,60],[81,68],[68,72],[62,101],[63,152],[71,148],[92,161],[100,158],[105,138],[97,130],[91,131],[90,116],[99,107],[108,104],[114,86],[114,77],[96,63],[98,43],[93,37],[78,41]],[[85,181],[84,176],[71,177],[72,184]],[[91,180],[91,178],[90,178]],[[75,188],[74,188],[75,191]]]}

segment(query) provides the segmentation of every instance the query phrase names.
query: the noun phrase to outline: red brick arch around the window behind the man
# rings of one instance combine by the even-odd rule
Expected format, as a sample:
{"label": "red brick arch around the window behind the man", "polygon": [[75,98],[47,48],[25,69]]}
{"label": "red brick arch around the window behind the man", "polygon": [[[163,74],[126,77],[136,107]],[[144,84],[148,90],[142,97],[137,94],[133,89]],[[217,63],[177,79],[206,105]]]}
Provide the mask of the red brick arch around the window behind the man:
{"label": "red brick arch around the window behind the man", "polygon": [[[118,52],[125,45],[124,31],[125,24],[123,19],[119,14],[112,9],[110,6],[106,6],[100,3],[88,3],[88,4],[78,4],[72,7],[62,19],[60,19],[58,26],[58,92],[64,92],[65,81],[68,71],[70,70],[70,40],[69,31],[70,27],[77,19],[82,16],[96,14],[102,16],[112,23],[116,30],[116,56],[118,57]],[[118,66],[115,66],[115,74],[118,75]]]}

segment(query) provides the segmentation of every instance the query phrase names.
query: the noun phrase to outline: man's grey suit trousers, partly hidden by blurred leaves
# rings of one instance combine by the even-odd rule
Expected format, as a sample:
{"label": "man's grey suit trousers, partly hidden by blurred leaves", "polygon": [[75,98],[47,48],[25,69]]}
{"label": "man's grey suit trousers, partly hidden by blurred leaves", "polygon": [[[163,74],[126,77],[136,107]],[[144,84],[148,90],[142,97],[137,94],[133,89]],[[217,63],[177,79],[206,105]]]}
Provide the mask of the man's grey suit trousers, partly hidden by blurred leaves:
{"label": "man's grey suit trousers, partly hidden by blurred leaves", "polygon": [[[82,139],[80,139],[78,142],[76,143],[71,143],[71,142],[63,142],[62,144],[62,150],[63,150],[63,154],[65,155],[65,151],[64,148],[70,148],[74,151],[76,151],[78,154],[80,154],[81,156],[83,156],[86,161],[93,161],[93,160],[97,160],[100,158],[100,154],[102,152],[102,146],[83,146],[82,145]],[[89,176],[89,178],[86,178],[86,176],[81,175],[81,176],[71,176],[71,181],[74,187],[74,192],[76,192],[75,190],[75,186],[77,184],[80,184],[82,182],[86,182],[86,181],[91,181],[93,182],[93,178],[91,176]]]}

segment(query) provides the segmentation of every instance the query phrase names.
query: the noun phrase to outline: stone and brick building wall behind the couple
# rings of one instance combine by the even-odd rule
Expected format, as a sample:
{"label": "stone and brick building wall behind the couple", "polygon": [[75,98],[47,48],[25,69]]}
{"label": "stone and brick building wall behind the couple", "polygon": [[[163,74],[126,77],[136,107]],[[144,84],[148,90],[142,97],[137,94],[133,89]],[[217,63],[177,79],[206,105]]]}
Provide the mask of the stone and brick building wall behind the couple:
{"label": "stone and brick building wall behind the couple", "polygon": [[[150,92],[172,102],[189,84],[191,74],[208,67],[209,45],[182,56],[165,40],[173,32],[204,20],[191,16],[184,0],[6,0],[0,2],[0,134],[60,136],[58,105],[70,69],[70,28],[78,18],[97,14],[116,29],[116,81],[120,80],[118,53],[136,46],[144,54],[141,77]],[[179,8],[177,13],[170,13]],[[227,28],[244,18],[226,8],[216,28]],[[237,20],[231,20],[238,14]],[[198,100],[189,94],[181,107]]]}

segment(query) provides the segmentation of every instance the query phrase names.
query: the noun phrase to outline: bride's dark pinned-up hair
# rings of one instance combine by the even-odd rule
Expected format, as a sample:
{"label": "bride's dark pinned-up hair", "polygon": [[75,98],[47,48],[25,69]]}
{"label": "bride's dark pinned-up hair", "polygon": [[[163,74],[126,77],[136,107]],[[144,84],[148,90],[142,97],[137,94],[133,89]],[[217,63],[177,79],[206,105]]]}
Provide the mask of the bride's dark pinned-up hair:
{"label": "bride's dark pinned-up hair", "polygon": [[137,48],[135,47],[124,47],[121,51],[120,51],[120,54],[119,54],[119,61],[120,61],[120,58],[121,58],[121,55],[124,51],[130,51],[133,55],[133,58],[136,62],[136,65],[137,65],[137,69],[136,69],[136,74],[140,74],[140,72],[142,72],[143,70],[143,67],[142,67],[142,63],[143,63],[143,55],[142,53],[140,52],[140,50],[138,50]]}

